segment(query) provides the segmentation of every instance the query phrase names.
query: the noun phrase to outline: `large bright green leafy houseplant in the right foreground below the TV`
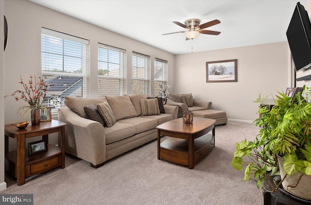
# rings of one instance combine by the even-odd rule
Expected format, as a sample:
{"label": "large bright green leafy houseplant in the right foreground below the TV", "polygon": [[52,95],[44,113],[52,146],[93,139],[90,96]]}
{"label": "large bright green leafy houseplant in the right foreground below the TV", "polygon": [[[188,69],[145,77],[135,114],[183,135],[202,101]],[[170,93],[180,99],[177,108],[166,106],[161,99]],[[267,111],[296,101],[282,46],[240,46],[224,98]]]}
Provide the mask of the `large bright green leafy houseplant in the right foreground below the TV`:
{"label": "large bright green leafy houseplant in the right foreground below the TV", "polygon": [[[302,93],[310,95],[311,91],[304,86]],[[236,144],[231,164],[240,171],[245,166],[242,180],[257,181],[258,188],[264,181],[269,189],[267,191],[275,193],[282,184],[291,194],[311,200],[310,190],[309,195],[300,190],[295,192],[309,180],[305,177],[311,175],[311,104],[309,99],[302,97],[302,93],[298,92],[294,97],[279,93],[271,110],[259,106],[260,117],[254,121],[256,126],[261,127],[259,134],[254,141],[245,139]],[[265,100],[266,97],[261,99],[259,95],[256,102],[264,104]],[[283,168],[281,180],[276,181],[274,176],[279,175],[279,169],[282,172]],[[297,179],[286,184],[292,177]]]}

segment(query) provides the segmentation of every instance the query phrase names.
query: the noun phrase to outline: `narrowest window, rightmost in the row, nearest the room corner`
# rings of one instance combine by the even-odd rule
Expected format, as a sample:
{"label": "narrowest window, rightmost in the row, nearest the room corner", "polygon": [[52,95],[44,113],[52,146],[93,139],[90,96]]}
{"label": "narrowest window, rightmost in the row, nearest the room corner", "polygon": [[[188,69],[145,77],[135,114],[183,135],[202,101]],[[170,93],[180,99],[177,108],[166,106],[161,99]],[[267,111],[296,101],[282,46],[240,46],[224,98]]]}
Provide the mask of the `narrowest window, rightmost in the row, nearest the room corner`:
{"label": "narrowest window, rightmost in the row, nearest the room corner", "polygon": [[154,96],[161,97],[161,87],[167,85],[168,81],[168,66],[167,61],[155,58],[155,87]]}

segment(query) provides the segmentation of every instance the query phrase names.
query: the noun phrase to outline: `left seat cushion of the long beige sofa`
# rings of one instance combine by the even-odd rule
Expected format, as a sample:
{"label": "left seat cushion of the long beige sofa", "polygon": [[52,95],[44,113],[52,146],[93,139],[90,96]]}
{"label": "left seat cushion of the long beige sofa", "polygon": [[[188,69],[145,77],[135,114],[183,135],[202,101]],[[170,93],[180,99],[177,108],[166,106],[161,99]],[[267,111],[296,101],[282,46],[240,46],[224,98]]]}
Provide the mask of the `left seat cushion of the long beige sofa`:
{"label": "left seat cushion of the long beige sofa", "polygon": [[136,129],[132,124],[116,122],[111,127],[105,127],[106,144],[120,141],[135,135]]}

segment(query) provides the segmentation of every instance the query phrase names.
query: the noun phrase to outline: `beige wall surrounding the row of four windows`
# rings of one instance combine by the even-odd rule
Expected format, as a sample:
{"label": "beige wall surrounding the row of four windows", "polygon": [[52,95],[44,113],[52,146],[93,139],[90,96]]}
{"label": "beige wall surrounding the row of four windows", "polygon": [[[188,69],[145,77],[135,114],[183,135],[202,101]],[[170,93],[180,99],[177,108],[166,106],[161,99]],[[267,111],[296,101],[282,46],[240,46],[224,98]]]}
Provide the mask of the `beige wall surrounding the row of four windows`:
{"label": "beige wall surrounding the row of four windows", "polygon": [[[72,34],[90,41],[91,77],[88,79],[88,96],[97,96],[98,42],[126,50],[127,79],[131,79],[132,51],[136,51],[151,56],[152,62],[155,58],[167,60],[169,64],[169,84],[174,84],[174,55],[171,53],[69,17],[28,0],[4,0],[4,4],[4,14],[9,25],[8,46],[4,53],[4,95],[10,95],[20,88],[20,85],[17,84],[20,76],[24,80],[28,80],[30,74],[40,76],[42,27]],[[126,83],[127,94],[131,94],[131,80]],[[5,124],[30,120],[29,114],[26,118],[23,115],[16,114],[18,107],[23,102],[16,102],[13,97],[7,97],[4,103],[6,108],[4,114]],[[14,149],[15,146],[14,142],[11,143],[11,141],[10,150]],[[57,143],[57,140],[51,142]]]}

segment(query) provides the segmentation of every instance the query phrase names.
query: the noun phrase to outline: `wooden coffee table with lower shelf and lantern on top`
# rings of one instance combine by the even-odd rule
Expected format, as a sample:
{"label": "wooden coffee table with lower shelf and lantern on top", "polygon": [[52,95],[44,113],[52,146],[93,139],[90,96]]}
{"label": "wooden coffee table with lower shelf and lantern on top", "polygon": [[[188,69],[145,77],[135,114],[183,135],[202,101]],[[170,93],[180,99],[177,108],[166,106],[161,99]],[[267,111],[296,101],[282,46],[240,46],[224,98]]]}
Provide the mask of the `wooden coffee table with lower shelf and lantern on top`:
{"label": "wooden coffee table with lower shelf and lantern on top", "polygon": [[[160,124],[157,130],[157,158],[189,169],[215,147],[215,122],[205,118],[193,118],[192,124],[183,123],[179,118]],[[212,134],[208,134],[212,130]],[[160,143],[161,135],[169,136]]]}

